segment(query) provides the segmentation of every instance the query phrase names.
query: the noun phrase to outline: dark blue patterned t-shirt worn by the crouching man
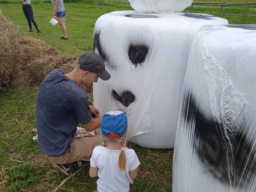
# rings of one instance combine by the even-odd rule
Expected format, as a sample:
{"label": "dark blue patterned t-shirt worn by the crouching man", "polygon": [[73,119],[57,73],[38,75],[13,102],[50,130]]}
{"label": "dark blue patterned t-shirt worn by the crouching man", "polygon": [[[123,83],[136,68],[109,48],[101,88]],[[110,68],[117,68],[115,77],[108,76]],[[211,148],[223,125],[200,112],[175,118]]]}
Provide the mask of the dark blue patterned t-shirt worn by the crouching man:
{"label": "dark blue patterned t-shirt worn by the crouching man", "polygon": [[38,146],[53,157],[69,150],[78,123],[92,119],[87,94],[60,69],[50,72],[41,83],[35,115]]}

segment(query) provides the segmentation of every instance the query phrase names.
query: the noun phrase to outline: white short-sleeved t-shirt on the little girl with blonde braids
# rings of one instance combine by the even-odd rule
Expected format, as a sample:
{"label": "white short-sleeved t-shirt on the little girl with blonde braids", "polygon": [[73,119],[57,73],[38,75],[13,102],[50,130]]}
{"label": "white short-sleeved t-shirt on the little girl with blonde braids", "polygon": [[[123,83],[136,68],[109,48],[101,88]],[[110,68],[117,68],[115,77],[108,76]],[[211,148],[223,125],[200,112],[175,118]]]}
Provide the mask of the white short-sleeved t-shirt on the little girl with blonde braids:
{"label": "white short-sleeved t-shirt on the little girl with blonde braids", "polygon": [[126,172],[120,171],[118,158],[120,150],[110,150],[96,146],[90,159],[92,167],[98,167],[97,190],[99,192],[128,192],[130,183],[129,171],[136,169],[140,162],[133,149],[124,149],[126,154]]}

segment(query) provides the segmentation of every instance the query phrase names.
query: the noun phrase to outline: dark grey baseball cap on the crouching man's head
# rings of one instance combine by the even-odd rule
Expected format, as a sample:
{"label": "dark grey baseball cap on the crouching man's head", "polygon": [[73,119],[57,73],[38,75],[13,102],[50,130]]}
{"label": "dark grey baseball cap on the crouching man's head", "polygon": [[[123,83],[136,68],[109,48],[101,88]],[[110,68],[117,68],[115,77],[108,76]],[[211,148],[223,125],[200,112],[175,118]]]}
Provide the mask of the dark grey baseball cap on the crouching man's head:
{"label": "dark grey baseball cap on the crouching man's head", "polygon": [[105,69],[105,63],[101,56],[95,52],[85,52],[79,56],[79,62],[77,66],[92,73],[96,73],[99,78],[107,81],[111,78],[111,75]]}

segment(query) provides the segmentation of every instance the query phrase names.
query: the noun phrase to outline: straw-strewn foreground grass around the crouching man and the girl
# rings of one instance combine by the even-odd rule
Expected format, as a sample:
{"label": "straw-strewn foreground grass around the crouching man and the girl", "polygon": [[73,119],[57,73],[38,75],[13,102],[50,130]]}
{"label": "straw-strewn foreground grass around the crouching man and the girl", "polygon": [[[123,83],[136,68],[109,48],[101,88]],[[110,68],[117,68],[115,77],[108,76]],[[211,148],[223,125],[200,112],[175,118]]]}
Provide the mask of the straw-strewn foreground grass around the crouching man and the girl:
{"label": "straw-strewn foreground grass around the crouching man and the girl", "polygon": [[[55,171],[32,140],[38,86],[0,92],[0,191],[52,191],[65,175]],[[171,191],[172,150],[152,150],[132,145],[142,163],[133,191]],[[23,163],[22,163],[23,162]],[[160,167],[159,167],[160,166]],[[96,189],[89,163],[62,188],[84,192]],[[4,182],[4,183],[2,183]]]}

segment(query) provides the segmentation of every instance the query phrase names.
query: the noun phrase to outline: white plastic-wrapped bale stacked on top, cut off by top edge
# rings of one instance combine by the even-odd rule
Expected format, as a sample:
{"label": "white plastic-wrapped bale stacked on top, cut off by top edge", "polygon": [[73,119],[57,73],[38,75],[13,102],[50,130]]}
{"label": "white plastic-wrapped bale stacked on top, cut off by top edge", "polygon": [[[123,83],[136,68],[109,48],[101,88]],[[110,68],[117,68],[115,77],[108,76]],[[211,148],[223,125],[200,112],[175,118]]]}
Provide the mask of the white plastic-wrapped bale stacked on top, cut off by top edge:
{"label": "white plastic-wrapped bale stacked on top, cut off by top edge", "polygon": [[129,0],[131,7],[139,13],[181,12],[193,0]]}

